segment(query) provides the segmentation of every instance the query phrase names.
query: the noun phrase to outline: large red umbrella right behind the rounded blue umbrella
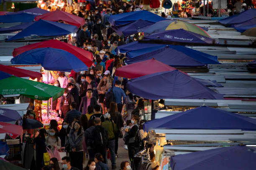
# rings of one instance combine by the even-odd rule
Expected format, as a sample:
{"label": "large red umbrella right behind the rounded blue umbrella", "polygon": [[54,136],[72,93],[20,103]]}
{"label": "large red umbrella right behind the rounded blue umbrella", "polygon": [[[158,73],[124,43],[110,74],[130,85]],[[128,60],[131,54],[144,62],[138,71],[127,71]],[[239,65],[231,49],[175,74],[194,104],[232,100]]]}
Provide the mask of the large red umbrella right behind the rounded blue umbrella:
{"label": "large red umbrella right behind the rounded blue umbrella", "polygon": [[13,57],[16,57],[17,55],[20,55],[21,53],[26,52],[28,50],[32,50],[32,49],[36,49],[36,48],[46,48],[46,47],[65,50],[65,51],[73,54],[77,58],[79,58],[85,65],[87,65],[87,67],[91,67],[93,64],[93,62],[92,62],[93,55],[91,52],[89,52],[87,50],[83,50],[79,47],[70,45],[66,42],[62,42],[59,40],[42,41],[42,42],[38,42],[35,44],[15,48],[13,50]]}

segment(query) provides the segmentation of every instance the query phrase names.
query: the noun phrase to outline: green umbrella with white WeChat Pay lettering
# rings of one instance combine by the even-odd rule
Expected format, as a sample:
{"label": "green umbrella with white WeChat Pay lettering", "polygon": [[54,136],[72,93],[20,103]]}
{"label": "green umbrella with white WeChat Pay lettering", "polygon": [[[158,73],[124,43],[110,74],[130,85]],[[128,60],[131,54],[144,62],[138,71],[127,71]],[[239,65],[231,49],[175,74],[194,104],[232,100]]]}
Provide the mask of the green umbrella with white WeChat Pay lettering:
{"label": "green umbrella with white WeChat Pay lettering", "polygon": [[20,94],[37,100],[49,100],[51,97],[53,97],[53,100],[56,100],[63,95],[63,92],[64,88],[26,80],[13,75],[7,75],[7,77],[0,79],[1,95]]}

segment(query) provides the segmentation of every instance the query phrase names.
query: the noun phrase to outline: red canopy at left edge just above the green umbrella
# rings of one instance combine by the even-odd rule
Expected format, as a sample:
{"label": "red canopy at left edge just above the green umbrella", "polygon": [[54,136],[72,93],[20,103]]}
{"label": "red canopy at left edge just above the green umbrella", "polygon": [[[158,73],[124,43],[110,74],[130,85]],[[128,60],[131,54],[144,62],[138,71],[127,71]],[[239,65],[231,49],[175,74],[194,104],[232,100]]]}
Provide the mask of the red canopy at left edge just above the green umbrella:
{"label": "red canopy at left edge just above the green umbrella", "polygon": [[40,79],[40,77],[42,77],[41,73],[39,72],[24,70],[21,68],[10,67],[10,66],[1,65],[1,64],[0,64],[0,71],[9,73],[11,75],[15,75],[17,77],[31,77],[32,79],[35,79],[35,78]]}

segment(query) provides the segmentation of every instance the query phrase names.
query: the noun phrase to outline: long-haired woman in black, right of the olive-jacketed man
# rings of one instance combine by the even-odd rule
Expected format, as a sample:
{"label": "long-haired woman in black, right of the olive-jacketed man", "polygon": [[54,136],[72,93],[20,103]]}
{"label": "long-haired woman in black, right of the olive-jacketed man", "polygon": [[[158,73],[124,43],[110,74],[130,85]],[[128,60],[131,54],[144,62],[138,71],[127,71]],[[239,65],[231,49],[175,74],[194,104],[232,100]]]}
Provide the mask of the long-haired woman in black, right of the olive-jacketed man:
{"label": "long-haired woman in black, right of the olive-jacketed man", "polygon": [[116,138],[115,138],[115,156],[118,158],[118,139],[119,136],[121,135],[121,128],[123,127],[123,117],[121,115],[120,112],[118,112],[118,107],[116,102],[111,102],[110,103],[110,110],[109,110],[109,114],[111,119],[114,121],[114,123],[117,126],[118,129],[118,134],[116,134]]}

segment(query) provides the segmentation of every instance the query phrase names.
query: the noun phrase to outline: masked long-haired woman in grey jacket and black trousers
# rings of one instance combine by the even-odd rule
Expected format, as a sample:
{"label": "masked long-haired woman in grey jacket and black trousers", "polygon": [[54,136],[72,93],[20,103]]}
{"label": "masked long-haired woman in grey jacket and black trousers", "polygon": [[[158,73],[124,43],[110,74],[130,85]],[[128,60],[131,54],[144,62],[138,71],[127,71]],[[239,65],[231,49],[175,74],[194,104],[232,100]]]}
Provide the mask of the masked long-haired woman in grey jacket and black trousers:
{"label": "masked long-haired woman in grey jacket and black trousers", "polygon": [[74,127],[69,132],[71,165],[83,169],[83,140],[84,130],[79,121],[74,122]]}

